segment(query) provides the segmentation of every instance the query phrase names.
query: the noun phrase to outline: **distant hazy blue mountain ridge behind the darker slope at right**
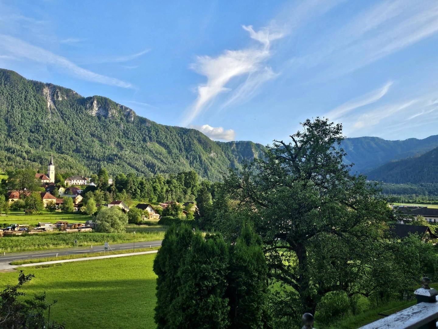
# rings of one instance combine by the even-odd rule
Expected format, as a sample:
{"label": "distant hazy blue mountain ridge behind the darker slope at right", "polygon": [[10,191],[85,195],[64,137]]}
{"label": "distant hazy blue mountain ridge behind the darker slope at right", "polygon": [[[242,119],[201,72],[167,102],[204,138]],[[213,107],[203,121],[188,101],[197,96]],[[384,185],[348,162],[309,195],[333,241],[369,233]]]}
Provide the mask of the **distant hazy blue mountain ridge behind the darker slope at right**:
{"label": "distant hazy blue mountain ridge behind the darker slope at right", "polygon": [[367,173],[389,161],[415,157],[438,147],[438,135],[424,139],[385,140],[379,137],[346,138],[346,163],[354,163],[353,172]]}

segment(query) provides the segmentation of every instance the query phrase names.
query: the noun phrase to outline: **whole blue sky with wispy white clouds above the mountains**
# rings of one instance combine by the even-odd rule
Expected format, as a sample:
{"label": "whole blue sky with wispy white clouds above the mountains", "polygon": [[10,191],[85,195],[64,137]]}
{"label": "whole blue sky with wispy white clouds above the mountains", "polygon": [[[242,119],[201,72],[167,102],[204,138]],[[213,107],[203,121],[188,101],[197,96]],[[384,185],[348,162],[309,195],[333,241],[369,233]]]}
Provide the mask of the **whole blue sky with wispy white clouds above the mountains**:
{"label": "whole blue sky with wispy white clouds above the mountains", "polygon": [[0,67],[212,139],[437,134],[438,2],[1,1]]}

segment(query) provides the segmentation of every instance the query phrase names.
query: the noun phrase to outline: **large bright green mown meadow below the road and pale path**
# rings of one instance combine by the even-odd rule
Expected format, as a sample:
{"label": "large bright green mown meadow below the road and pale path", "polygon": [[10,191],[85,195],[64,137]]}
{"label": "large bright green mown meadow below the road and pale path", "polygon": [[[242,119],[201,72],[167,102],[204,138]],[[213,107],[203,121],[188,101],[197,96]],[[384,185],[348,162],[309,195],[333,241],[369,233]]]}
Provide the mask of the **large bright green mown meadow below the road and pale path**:
{"label": "large bright green mown meadow below the road and pale path", "polygon": [[[35,278],[23,291],[27,297],[46,291],[49,302],[57,299],[50,318],[66,328],[156,328],[154,258],[146,254],[25,268]],[[18,272],[0,273],[0,287],[17,282]]]}

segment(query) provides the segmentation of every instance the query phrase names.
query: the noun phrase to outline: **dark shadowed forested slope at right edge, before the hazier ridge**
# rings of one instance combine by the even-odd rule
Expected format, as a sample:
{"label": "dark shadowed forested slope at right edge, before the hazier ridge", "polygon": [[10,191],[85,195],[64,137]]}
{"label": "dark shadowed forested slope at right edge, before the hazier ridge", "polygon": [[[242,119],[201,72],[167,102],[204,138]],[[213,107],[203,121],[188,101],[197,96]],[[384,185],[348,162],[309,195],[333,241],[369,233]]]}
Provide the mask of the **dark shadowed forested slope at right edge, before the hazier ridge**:
{"label": "dark shadowed forested slope at right edge, before the hazier ridge", "polygon": [[367,173],[368,179],[388,183],[438,183],[438,147],[419,156],[384,164]]}

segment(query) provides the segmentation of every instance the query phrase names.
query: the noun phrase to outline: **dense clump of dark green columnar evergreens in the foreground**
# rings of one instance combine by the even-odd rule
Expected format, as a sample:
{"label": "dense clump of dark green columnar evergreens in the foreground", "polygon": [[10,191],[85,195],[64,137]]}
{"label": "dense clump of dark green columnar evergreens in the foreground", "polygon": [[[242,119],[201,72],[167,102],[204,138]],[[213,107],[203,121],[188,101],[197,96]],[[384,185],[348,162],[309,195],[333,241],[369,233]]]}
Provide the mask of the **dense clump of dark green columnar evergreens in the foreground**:
{"label": "dense clump of dark green columnar evergreens in the foreground", "polygon": [[233,246],[219,235],[172,226],[154,261],[158,328],[268,328],[267,266],[245,228]]}

